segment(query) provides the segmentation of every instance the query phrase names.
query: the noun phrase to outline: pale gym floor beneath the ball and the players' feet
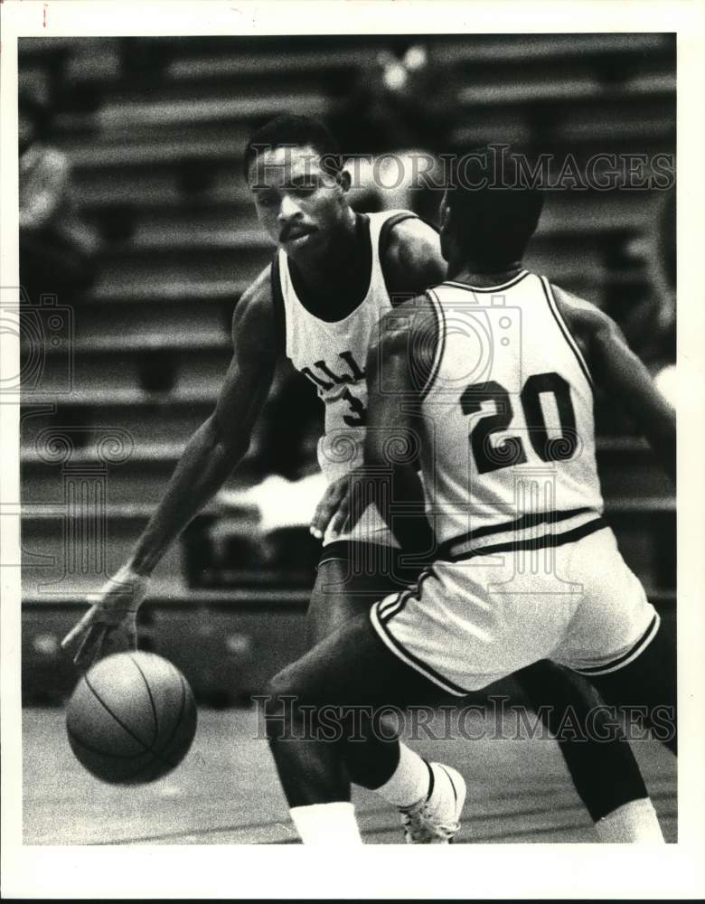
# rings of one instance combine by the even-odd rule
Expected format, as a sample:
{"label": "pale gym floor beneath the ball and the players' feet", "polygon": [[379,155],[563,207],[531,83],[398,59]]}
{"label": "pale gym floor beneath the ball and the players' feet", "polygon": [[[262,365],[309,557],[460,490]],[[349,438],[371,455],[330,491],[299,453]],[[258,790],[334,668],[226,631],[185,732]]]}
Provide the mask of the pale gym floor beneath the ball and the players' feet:
{"label": "pale gym floor beneath the ball and the players' feet", "polygon": [[[493,727],[475,715],[474,736]],[[530,720],[530,724],[532,721]],[[260,732],[261,733],[261,732]],[[297,843],[254,710],[199,712],[193,747],[147,786],[104,785],[73,757],[61,709],[23,711],[25,844]],[[460,843],[585,843],[597,836],[550,739],[418,740],[423,756],[467,781]],[[634,743],[668,842],[676,841],[676,760],[653,740]],[[399,817],[355,789],[366,843],[403,841]]]}

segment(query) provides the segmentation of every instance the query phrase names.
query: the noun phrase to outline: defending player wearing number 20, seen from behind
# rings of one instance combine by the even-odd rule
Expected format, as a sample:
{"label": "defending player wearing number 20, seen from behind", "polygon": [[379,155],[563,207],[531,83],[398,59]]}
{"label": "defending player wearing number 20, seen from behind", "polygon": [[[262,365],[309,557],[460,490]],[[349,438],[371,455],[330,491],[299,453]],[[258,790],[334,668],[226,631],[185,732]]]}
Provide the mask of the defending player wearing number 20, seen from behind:
{"label": "defending player wearing number 20, seen from behind", "polygon": [[[416,588],[352,619],[270,688],[270,745],[305,842],[354,839],[343,808],[351,763],[359,772],[374,761],[379,775],[386,762],[384,796],[442,770],[429,777],[423,761],[400,758],[373,715],[363,743],[326,742],[305,708],[325,706],[330,718],[341,707],[344,726],[349,708],[362,718],[462,699],[547,657],[590,676],[608,702],[641,706],[652,727],[675,718],[674,638],[602,518],[592,381],[673,476],[674,412],[606,315],[522,268],[540,193],[492,189],[482,169],[475,186],[483,175],[484,189],[444,198],[448,279],[381,322],[367,359],[364,465],[327,525],[350,530],[374,501],[393,529],[395,487],[420,446],[435,560]],[[675,749],[674,733],[666,740]],[[420,822],[432,818],[433,793],[412,807]]]}

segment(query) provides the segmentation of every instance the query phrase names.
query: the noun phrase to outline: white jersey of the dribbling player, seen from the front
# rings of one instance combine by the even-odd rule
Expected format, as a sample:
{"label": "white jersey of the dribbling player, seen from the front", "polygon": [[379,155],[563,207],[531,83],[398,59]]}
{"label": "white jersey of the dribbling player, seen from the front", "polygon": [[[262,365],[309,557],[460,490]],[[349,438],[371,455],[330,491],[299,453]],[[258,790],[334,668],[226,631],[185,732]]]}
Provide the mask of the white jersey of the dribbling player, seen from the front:
{"label": "white jersey of the dribbling player, seen from the front", "polygon": [[[365,363],[381,316],[391,302],[381,268],[381,232],[384,224],[413,217],[408,211],[367,214],[371,241],[371,275],[367,294],[343,320],[328,322],[311,314],[296,296],[287,255],[278,252],[278,274],[286,323],[287,357],[315,384],[324,402],[324,436],[318,441],[318,464],[329,483],[362,464],[367,414]],[[393,538],[381,514],[374,506],[363,513],[353,534],[341,534],[340,540],[354,539],[392,543]],[[324,537],[324,544],[330,538]]]}

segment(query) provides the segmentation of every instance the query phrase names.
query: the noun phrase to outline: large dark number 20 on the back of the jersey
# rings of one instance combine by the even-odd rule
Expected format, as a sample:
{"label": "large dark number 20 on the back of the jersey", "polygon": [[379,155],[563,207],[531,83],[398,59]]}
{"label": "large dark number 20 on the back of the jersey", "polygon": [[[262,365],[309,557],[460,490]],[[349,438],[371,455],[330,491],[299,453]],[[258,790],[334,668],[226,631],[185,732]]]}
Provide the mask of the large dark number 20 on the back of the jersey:
{"label": "large dark number 20 on the back of the jersey", "polygon": [[[550,392],[559,413],[560,436],[549,437],[541,409],[540,393]],[[575,410],[570,400],[569,383],[559,373],[535,373],[524,383],[520,396],[526,419],[529,441],[541,461],[567,461],[578,448]],[[522,465],[526,452],[521,437],[506,437],[493,444],[492,436],[510,427],[514,411],[512,401],[501,383],[494,380],[473,383],[460,397],[463,414],[476,414],[483,402],[494,402],[494,414],[485,414],[470,431],[470,447],[480,474],[498,471],[503,467]]]}

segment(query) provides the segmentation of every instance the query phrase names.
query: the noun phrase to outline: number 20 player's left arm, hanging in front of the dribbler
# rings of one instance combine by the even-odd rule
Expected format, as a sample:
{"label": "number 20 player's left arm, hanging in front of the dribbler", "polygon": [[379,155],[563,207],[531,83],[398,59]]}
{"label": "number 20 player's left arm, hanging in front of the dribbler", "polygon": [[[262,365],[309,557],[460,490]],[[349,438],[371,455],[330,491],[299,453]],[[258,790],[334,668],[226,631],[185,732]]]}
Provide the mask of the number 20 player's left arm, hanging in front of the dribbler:
{"label": "number 20 player's left arm, hanging in front of the dribbler", "polygon": [[377,504],[402,549],[425,553],[432,551],[433,541],[418,477],[414,412],[420,389],[418,374],[428,368],[424,361],[412,362],[411,354],[412,349],[420,349],[424,355],[433,355],[431,343],[414,341],[419,331],[428,333],[429,315],[433,316],[428,299],[416,297],[380,321],[367,355],[364,464],[350,476],[332,521],[334,531],[348,522],[352,530],[364,509]]}

